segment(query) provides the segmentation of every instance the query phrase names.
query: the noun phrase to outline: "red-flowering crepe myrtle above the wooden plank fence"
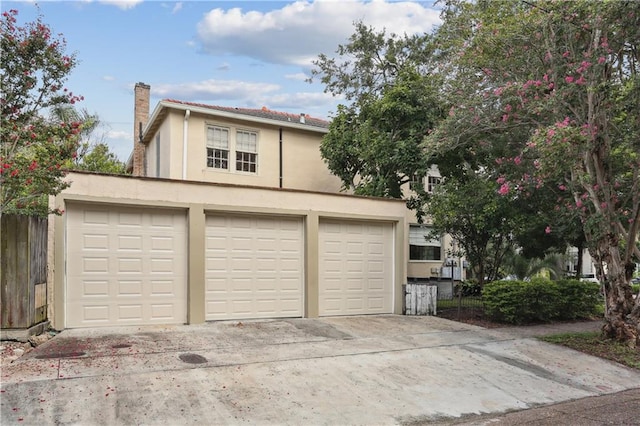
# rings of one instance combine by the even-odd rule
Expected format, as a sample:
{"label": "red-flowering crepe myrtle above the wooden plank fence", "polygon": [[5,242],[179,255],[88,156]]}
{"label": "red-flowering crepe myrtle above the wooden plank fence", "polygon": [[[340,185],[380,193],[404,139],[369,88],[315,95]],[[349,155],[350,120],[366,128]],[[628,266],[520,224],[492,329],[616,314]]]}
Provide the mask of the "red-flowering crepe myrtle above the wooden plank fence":
{"label": "red-flowering crepe myrtle above the wooden plank fence", "polygon": [[59,193],[63,164],[73,158],[82,123],[47,117],[51,108],[82,100],[64,83],[76,65],[60,35],[38,17],[18,25],[18,11],[0,18],[0,214],[46,215]]}

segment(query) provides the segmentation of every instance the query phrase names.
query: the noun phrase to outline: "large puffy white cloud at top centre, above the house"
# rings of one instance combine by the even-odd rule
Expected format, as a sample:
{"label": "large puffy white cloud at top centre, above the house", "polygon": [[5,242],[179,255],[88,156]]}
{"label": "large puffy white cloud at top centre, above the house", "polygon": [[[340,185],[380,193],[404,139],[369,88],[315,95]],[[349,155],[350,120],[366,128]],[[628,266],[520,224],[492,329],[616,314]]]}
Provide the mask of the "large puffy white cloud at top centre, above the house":
{"label": "large puffy white cloud at top centre, above the house", "polygon": [[387,34],[417,34],[431,31],[440,18],[437,10],[412,1],[301,0],[269,12],[216,8],[197,31],[207,53],[308,66],[320,53],[330,55],[345,44],[355,21]]}

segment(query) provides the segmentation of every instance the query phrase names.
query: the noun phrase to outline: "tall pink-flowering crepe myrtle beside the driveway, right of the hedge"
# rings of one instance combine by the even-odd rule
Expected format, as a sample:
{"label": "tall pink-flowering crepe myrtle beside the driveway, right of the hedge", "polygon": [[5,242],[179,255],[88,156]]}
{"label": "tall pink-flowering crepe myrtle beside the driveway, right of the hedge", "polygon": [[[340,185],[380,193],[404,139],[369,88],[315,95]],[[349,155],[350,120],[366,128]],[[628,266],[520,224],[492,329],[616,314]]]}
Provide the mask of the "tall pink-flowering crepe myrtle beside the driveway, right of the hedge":
{"label": "tall pink-flowering crepe myrtle beside the driveway, right of the hedge", "polygon": [[554,211],[580,218],[601,265],[603,331],[637,346],[640,3],[451,0],[443,17],[453,107],[427,145],[471,150],[511,135],[486,164],[497,192],[524,202],[552,189]]}

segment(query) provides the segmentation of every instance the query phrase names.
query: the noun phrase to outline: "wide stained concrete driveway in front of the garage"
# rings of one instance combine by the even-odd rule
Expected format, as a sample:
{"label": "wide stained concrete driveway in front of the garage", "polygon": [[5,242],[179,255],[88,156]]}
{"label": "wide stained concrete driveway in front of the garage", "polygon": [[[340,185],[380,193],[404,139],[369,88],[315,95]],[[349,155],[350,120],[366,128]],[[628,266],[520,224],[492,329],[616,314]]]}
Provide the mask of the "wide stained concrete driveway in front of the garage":
{"label": "wide stained concrete driveway in front of the garage", "polygon": [[66,330],[2,371],[2,425],[445,422],[638,387],[510,329],[397,315]]}

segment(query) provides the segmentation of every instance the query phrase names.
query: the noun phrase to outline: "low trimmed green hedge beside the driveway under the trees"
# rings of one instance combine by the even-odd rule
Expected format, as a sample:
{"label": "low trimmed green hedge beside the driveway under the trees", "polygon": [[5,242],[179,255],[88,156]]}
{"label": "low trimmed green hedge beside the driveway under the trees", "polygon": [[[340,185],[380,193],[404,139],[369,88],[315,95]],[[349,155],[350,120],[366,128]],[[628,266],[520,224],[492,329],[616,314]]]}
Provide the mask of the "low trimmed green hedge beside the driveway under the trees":
{"label": "low trimmed green hedge beside the driveway under the trees", "polygon": [[578,280],[494,281],[484,286],[484,313],[511,324],[589,318],[602,298],[597,283]]}

